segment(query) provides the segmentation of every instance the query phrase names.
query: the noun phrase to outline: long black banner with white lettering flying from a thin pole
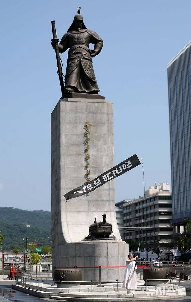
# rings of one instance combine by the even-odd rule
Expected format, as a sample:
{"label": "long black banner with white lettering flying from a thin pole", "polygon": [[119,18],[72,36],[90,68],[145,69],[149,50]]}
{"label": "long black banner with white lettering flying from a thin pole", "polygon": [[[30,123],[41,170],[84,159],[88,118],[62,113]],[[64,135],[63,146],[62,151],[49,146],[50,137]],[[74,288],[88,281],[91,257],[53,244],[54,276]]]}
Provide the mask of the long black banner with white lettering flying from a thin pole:
{"label": "long black banner with white lettering flying from a thin pole", "polygon": [[96,188],[101,187],[106,182],[109,182],[111,179],[114,179],[124,174],[125,172],[135,168],[138,165],[140,165],[140,161],[137,155],[134,154],[133,156],[129,157],[128,159],[125,159],[123,162],[116,165],[115,167],[102,173],[97,178],[94,178],[90,182],[87,182],[86,184],[81,185],[80,187],[75,188],[74,190],[66,193],[64,197],[66,198],[67,201],[71,198],[79,197],[91,191],[94,191]]}

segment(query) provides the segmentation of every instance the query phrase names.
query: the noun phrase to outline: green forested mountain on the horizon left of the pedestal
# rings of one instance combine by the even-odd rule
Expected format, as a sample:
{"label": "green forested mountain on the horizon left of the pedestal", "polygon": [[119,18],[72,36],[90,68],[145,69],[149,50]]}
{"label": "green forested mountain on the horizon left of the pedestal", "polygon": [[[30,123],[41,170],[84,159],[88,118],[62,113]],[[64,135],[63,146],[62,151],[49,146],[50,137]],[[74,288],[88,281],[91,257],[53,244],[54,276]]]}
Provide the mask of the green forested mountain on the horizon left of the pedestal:
{"label": "green forested mountain on the horizon left of the pedestal", "polygon": [[4,235],[3,250],[16,247],[25,249],[26,237],[28,249],[30,249],[30,243],[42,245],[51,243],[51,212],[0,207],[0,230]]}

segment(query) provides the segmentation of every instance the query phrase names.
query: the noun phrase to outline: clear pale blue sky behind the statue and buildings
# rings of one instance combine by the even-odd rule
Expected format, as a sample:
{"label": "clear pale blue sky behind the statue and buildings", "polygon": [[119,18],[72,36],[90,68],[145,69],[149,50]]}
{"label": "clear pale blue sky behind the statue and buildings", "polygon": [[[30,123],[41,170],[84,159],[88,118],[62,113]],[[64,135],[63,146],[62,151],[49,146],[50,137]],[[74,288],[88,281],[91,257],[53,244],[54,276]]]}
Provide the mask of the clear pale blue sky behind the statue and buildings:
{"label": "clear pale blue sky behind the statue and buildings", "polygon": [[[191,2],[11,0],[0,20],[0,206],[51,209],[50,114],[61,93],[50,21],[61,38],[77,6],[104,40],[93,66],[114,103],[115,164],[137,153],[146,189],[171,183],[167,63],[191,40]],[[116,202],[143,195],[141,166],[116,179],[115,194]]]}

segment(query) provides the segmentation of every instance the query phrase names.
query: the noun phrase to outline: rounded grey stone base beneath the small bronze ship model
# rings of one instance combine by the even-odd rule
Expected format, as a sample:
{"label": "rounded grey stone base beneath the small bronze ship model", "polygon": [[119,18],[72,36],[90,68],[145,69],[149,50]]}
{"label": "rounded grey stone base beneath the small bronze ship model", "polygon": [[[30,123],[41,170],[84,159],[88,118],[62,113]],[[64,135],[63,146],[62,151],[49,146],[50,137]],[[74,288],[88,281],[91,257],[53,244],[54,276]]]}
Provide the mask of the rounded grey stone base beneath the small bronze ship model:
{"label": "rounded grey stone base beneath the small bronze ship model", "polygon": [[83,272],[83,281],[99,281],[99,266],[102,266],[101,280],[120,281],[124,278],[125,268],[115,266],[126,265],[128,244],[113,239],[81,241],[57,246],[55,254],[55,267],[76,266]]}

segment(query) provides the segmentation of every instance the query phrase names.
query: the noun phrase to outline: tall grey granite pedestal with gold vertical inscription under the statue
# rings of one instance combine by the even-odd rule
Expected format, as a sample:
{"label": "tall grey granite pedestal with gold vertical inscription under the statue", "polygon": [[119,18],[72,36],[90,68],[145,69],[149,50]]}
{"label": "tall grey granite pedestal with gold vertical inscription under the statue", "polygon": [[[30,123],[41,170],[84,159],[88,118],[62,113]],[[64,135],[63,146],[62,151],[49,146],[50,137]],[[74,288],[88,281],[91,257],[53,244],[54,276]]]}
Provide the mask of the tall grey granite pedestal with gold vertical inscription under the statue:
{"label": "tall grey granite pedestal with gold vertical inscription under the statue", "polygon": [[[122,242],[116,221],[114,180],[87,195],[67,202],[64,198],[65,193],[86,182],[86,121],[89,121],[90,130],[90,179],[114,166],[113,104],[93,97],[61,99],[51,115],[53,275],[54,266],[121,266],[127,259],[128,245]],[[116,240],[80,243],[88,235],[89,225],[95,216],[97,221],[102,221],[104,213],[112,224]],[[115,255],[109,255],[108,247],[111,245],[116,250]],[[103,261],[95,260],[101,256],[105,257]],[[96,274],[95,271],[91,279],[95,280]],[[104,277],[107,279],[109,274]]]}

